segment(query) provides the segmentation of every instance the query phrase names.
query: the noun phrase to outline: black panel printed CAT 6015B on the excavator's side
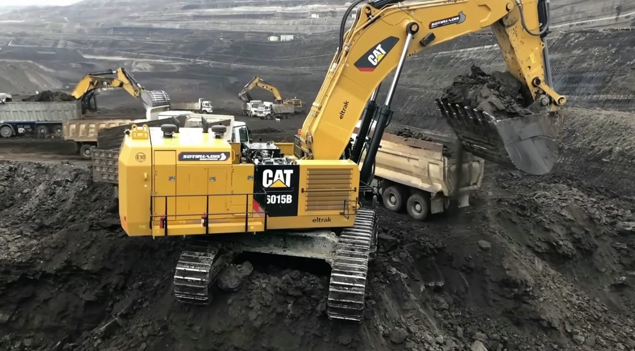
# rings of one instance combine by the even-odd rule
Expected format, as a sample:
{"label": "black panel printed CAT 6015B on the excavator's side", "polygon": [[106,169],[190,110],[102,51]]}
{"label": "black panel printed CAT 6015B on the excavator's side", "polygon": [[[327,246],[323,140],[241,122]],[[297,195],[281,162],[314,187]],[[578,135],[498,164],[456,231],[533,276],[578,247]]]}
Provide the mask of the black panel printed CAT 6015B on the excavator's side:
{"label": "black panel printed CAT 6015B on the excavator's side", "polygon": [[298,215],[299,187],[298,165],[255,166],[254,211],[266,210],[269,217]]}

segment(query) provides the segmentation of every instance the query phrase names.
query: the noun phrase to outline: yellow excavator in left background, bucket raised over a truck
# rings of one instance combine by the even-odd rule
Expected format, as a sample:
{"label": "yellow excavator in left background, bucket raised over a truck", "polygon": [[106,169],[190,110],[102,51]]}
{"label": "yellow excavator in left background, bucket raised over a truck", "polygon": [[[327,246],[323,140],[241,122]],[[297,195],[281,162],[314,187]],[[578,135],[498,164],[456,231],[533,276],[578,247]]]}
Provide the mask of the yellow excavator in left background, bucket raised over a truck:
{"label": "yellow excavator in left background, bucket raised over a truck", "polygon": [[[104,77],[104,75],[115,75],[115,77]],[[170,105],[168,93],[162,90],[146,90],[133,77],[132,73],[123,67],[84,75],[75,86],[75,89],[73,89],[72,96],[78,100],[81,99],[82,113],[87,111],[95,112],[97,111],[97,96],[95,96],[95,92],[98,89],[109,87],[123,88],[134,98],[140,99],[146,110],[157,106]]]}

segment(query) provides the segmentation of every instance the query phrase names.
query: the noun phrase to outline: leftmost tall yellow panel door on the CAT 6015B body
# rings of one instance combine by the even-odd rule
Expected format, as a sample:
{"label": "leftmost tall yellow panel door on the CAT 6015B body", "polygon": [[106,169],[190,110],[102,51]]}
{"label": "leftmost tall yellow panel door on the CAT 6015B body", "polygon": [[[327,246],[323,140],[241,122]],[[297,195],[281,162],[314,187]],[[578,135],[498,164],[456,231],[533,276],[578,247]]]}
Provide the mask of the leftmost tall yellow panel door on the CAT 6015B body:
{"label": "leftmost tall yellow panel door on the CAT 6015B body", "polygon": [[[152,182],[152,214],[167,215],[175,220],[177,212],[177,151],[154,151],[154,182]],[[166,208],[167,206],[167,208]],[[171,215],[171,216],[170,216]],[[158,223],[159,217],[153,217]]]}

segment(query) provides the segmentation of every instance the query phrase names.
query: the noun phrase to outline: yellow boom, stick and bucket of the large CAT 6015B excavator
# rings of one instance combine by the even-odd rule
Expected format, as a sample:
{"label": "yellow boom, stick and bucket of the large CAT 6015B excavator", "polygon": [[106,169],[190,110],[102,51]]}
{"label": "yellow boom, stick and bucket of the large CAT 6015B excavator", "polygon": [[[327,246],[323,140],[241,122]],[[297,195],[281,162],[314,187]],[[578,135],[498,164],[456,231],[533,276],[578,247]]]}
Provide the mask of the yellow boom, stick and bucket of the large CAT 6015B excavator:
{"label": "yellow boom, stick and bucket of the large CAT 6015B excavator", "polygon": [[[349,11],[359,3],[361,0],[353,3]],[[363,140],[375,114],[380,83],[397,68],[385,104],[378,108],[373,134],[378,138],[370,142],[366,153],[370,162],[364,162],[364,166],[371,167],[378,139],[392,115],[391,101],[405,58],[491,27],[509,71],[540,105],[540,113],[504,119],[462,106],[439,107],[464,147],[474,155],[532,174],[548,172],[557,160],[555,134],[561,122],[558,108],[566,103],[566,98],[550,87],[549,57],[544,55],[547,50],[542,37],[546,30],[539,24],[538,9],[546,18],[542,24],[548,24],[548,4],[549,0],[377,0],[362,5],[351,29],[340,39],[323,86],[296,138],[296,155],[341,158],[364,112],[358,134]],[[357,156],[359,162],[358,149],[359,155],[353,150],[352,158]],[[370,170],[364,168],[363,180]]]}

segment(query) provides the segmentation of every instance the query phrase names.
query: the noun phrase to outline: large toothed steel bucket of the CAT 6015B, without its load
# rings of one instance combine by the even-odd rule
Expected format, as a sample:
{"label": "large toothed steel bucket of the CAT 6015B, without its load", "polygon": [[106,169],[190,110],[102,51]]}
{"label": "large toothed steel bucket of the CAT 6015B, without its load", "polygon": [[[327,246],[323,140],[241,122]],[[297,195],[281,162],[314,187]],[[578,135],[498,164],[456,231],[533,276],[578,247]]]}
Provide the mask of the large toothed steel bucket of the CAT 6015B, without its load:
{"label": "large toothed steel bucket of the CAT 6015B, without its load", "polygon": [[556,137],[562,117],[557,113],[496,118],[439,99],[436,103],[465,151],[474,156],[537,176],[558,162]]}

